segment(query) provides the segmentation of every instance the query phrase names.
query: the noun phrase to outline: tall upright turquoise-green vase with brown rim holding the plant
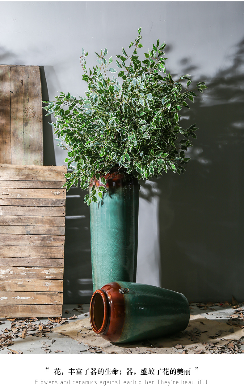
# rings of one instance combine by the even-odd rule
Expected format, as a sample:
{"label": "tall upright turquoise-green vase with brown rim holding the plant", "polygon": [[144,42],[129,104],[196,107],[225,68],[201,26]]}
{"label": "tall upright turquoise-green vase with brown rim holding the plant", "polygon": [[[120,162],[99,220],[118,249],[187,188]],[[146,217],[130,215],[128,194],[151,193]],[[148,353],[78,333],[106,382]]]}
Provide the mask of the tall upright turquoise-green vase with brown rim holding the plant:
{"label": "tall upright turquoise-green vase with brown rim holding the plant", "polygon": [[[107,192],[90,208],[93,291],[116,279],[136,281],[139,184],[120,171],[105,175]],[[93,180],[92,185],[103,185]]]}

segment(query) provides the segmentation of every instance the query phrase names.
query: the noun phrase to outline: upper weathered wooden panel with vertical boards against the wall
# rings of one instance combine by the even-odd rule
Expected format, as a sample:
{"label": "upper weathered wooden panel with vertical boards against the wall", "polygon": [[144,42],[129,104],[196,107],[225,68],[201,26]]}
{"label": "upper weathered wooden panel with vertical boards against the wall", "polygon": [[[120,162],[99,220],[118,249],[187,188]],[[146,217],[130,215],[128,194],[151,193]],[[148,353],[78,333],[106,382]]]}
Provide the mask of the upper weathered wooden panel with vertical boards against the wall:
{"label": "upper weathered wooden panel with vertical boards against the wall", "polygon": [[39,66],[0,65],[0,163],[43,165]]}

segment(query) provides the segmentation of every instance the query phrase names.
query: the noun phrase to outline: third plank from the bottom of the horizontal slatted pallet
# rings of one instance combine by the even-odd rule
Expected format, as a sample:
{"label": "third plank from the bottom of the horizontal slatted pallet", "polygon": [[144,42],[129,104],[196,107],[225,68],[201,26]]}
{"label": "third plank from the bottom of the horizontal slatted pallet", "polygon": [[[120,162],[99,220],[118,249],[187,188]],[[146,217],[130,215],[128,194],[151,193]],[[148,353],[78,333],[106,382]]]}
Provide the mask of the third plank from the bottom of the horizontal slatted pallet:
{"label": "third plank from the bottom of the horizontal slatted pallet", "polygon": [[62,292],[63,280],[42,279],[0,279],[0,291]]}

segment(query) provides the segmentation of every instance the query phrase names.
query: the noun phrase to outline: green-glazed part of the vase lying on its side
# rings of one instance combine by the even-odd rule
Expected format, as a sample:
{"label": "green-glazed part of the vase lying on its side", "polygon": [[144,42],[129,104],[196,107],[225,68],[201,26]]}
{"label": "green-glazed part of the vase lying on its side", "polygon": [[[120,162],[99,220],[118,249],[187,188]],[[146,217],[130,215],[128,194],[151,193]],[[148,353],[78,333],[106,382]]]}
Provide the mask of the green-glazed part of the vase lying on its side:
{"label": "green-glazed part of the vase lying on its side", "polygon": [[186,329],[190,308],[183,294],[147,284],[117,282],[124,294],[125,322],[117,342],[153,338]]}

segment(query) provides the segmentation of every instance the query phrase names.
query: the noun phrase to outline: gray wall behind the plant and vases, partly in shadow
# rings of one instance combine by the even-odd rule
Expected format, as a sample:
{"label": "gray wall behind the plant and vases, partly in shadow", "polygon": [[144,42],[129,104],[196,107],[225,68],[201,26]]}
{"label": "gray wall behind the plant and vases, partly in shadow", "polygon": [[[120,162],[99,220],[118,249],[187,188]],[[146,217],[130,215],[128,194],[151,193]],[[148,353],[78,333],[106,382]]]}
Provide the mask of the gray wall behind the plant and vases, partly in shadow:
{"label": "gray wall behind the plant and vases, partly in shadow", "polygon": [[[159,38],[173,76],[207,82],[182,114],[182,126],[200,128],[186,172],[142,184],[137,281],[191,301],[243,301],[243,2],[0,2],[0,13],[0,63],[43,66],[45,99],[84,95],[81,47],[88,67],[105,46],[115,59],[139,27],[142,52]],[[45,163],[63,165],[47,120],[44,140]],[[89,211],[80,189],[68,194],[64,301],[82,303],[91,295]]]}

